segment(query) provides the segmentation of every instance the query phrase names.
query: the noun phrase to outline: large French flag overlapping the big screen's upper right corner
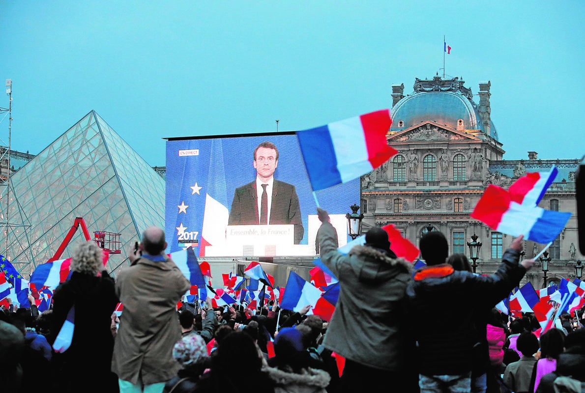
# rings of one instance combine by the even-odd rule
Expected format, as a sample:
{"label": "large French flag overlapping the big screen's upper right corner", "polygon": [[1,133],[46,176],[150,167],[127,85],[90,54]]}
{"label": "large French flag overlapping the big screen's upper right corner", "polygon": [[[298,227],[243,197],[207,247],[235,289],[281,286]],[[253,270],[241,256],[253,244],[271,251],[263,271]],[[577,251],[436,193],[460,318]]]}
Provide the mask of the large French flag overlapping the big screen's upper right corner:
{"label": "large French flag overlapping the big screen's upper right corner", "polygon": [[383,109],[298,131],[313,191],[358,178],[398,153],[386,142],[391,125],[390,110]]}

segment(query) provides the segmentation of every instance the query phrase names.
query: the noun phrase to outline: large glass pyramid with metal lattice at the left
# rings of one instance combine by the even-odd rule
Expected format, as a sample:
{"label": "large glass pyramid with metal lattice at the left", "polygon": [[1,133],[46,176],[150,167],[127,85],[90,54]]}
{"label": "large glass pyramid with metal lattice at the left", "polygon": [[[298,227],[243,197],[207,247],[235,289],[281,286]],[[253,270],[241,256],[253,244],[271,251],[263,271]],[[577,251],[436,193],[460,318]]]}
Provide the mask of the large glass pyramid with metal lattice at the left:
{"label": "large glass pyramid with metal lattice at the left", "polygon": [[[76,217],[92,239],[97,230],[121,233],[110,272],[128,263],[146,227],[164,228],[163,178],[94,111],[12,175],[8,203],[8,187],[0,191],[2,219],[8,208],[6,221],[14,224],[0,234],[0,254],[25,278],[53,256]],[[60,259],[83,241],[79,228]]]}

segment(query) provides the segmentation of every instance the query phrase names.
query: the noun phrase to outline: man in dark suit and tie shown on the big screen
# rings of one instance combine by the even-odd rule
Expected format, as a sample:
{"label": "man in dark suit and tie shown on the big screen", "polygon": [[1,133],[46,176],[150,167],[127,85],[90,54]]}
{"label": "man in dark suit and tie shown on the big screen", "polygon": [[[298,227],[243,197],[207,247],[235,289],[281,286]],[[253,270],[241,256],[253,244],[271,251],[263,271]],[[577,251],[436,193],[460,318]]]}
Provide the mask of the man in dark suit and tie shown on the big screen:
{"label": "man in dark suit and tie shown on the big screen", "polygon": [[293,224],[294,243],[301,242],[301,208],[294,185],[274,179],[278,149],[262,142],[254,149],[256,180],[236,188],[228,225]]}

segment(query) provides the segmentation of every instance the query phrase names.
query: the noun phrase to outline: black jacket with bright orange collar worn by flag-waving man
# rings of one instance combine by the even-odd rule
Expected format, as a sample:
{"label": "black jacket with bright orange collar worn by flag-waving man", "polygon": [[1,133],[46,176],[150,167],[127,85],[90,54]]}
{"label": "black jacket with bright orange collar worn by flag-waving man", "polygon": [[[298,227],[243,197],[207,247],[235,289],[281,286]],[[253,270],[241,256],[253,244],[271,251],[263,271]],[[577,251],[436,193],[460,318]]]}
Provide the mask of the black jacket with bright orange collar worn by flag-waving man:
{"label": "black jacket with bright orange collar worn by flag-waving man", "polygon": [[[432,324],[414,324],[424,375],[461,375],[472,370],[477,347],[485,341],[474,309],[495,306],[518,285],[526,269],[518,264],[519,251],[508,249],[493,275],[454,271],[448,264],[419,269],[408,288],[414,318]],[[486,351],[487,357],[487,351]],[[487,358],[486,358],[487,360]]]}

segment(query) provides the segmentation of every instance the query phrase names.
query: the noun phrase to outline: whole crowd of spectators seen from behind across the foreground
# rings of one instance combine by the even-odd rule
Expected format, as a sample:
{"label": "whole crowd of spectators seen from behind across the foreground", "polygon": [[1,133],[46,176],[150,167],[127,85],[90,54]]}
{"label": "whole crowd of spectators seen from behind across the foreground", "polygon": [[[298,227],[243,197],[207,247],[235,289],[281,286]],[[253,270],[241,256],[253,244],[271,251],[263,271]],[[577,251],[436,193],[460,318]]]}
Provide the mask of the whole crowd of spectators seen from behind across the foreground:
{"label": "whole crowd of spectators seen from behind across the foreground", "polygon": [[[258,310],[177,303],[190,282],[147,228],[116,280],[93,242],[75,247],[73,274],[53,305],[0,312],[0,391],[32,392],[572,392],[585,388],[583,310],[542,333],[532,314],[495,309],[534,264],[522,236],[492,275],[472,273],[439,232],[421,237],[426,266],[392,251],[374,227],[338,250],[318,209],[321,260],[340,282],[331,320],[271,302]],[[114,311],[123,304],[122,315]],[[66,322],[67,321],[67,322]],[[73,323],[65,350],[54,350]]]}

